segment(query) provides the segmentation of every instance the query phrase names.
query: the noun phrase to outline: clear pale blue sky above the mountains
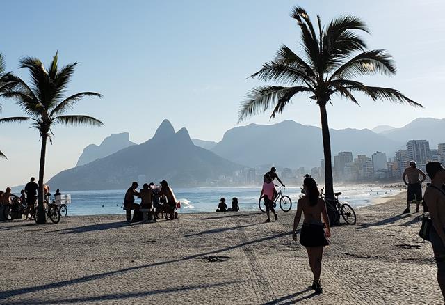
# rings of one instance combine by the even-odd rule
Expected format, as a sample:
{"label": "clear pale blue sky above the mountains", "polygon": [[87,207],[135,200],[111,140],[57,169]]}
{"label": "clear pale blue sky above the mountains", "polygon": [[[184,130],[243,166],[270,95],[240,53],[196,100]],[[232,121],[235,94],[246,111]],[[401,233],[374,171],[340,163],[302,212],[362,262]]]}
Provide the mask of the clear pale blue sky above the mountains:
{"label": "clear pale blue sky above the mountains", "polygon": [[[372,3],[372,4],[370,4]],[[18,69],[22,56],[46,65],[58,51],[60,65],[79,62],[67,95],[102,93],[85,99],[70,114],[88,114],[104,127],[54,128],[47,147],[45,180],[75,166],[85,146],[99,145],[112,133],[129,132],[131,141],[150,139],[168,118],[176,130],[186,127],[192,138],[220,141],[237,126],[239,104],[250,88],[248,79],[284,44],[301,54],[300,31],[289,17],[302,6],[323,23],[339,15],[364,19],[371,49],[394,56],[394,77],[359,79],[389,86],[420,102],[424,109],[359,96],[361,107],[332,99],[330,127],[403,127],[419,117],[444,118],[445,1],[7,1],[1,3],[0,52],[7,68]],[[21,116],[12,100],[0,100],[1,117]],[[318,107],[295,97],[284,113],[269,120],[270,111],[243,121],[271,124],[296,120],[320,126]],[[290,135],[291,136],[291,135]],[[291,138],[290,138],[291,139]],[[27,123],[0,125],[0,189],[38,177],[40,141]]]}

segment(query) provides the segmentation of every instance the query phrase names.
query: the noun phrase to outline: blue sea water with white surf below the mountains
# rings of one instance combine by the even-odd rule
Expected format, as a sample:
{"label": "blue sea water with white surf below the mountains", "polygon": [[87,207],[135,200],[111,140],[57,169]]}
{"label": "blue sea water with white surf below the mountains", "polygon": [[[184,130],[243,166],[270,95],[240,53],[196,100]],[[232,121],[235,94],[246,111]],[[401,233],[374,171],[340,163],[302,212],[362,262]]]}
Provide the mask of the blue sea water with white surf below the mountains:
{"label": "blue sea water with white surf below the mountains", "polygon": [[[402,189],[373,186],[344,185],[335,187],[341,191],[339,200],[353,207],[369,205],[374,198],[398,194]],[[68,215],[124,214],[122,210],[125,189],[110,191],[70,191],[72,203],[68,205]],[[238,198],[241,211],[257,211],[261,187],[193,187],[174,188],[181,209],[178,212],[215,212],[220,198],[225,198],[227,208],[232,206],[232,198]],[[291,198],[292,210],[301,196],[300,187],[286,187],[283,194]],[[136,203],[140,199],[136,198]],[[277,207],[280,210],[279,207]]]}

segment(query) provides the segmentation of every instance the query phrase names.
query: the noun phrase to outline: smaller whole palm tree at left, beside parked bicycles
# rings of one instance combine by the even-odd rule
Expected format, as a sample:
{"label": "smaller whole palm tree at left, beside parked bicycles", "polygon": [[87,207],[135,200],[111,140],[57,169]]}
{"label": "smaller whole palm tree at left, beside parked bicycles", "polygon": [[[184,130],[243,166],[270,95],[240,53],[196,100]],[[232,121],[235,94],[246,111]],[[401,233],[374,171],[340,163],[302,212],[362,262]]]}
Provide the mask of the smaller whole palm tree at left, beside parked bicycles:
{"label": "smaller whole palm tree at left, beside parked bicycles", "polygon": [[[53,58],[51,65],[44,68],[38,58],[24,57],[20,62],[20,68],[27,68],[31,75],[31,86],[19,77],[15,77],[16,84],[6,93],[0,96],[16,100],[27,116],[15,116],[1,118],[0,123],[22,123],[31,121],[31,127],[37,129],[42,139],[40,150],[39,169],[39,198],[38,198],[38,224],[44,224],[46,217],[43,211],[43,181],[44,164],[47,150],[47,140],[51,141],[52,128],[57,124],[101,126],[103,123],[97,118],[83,115],[65,115],[72,109],[76,102],[83,97],[102,97],[99,93],[81,92],[65,97],[67,85],[74,74],[77,63],[70,63],[63,68],[58,68],[58,54]],[[52,143],[52,141],[51,141]]]}

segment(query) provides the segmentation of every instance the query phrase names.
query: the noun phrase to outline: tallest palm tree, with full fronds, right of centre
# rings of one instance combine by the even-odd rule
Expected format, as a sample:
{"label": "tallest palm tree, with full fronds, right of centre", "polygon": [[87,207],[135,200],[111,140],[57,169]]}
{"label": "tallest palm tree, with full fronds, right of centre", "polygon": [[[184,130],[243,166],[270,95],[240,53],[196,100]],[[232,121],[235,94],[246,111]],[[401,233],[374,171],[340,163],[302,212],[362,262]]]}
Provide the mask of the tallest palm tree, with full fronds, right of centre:
{"label": "tallest palm tree, with full fronds, right of centre", "polygon": [[[254,114],[273,107],[270,119],[280,114],[294,95],[305,93],[316,101],[320,108],[323,150],[325,157],[325,191],[327,198],[334,198],[332,182],[332,157],[330,134],[327,124],[326,104],[333,95],[359,104],[353,93],[364,93],[371,100],[389,100],[422,107],[421,104],[392,88],[367,86],[355,81],[364,75],[395,75],[396,67],[391,56],[383,49],[368,50],[357,31],[369,33],[366,24],[359,18],[343,16],[321,26],[317,16],[318,36],[301,7],[294,7],[291,17],[301,29],[301,46],[304,57],[298,56],[282,45],[276,58],[265,63],[261,70],[251,75],[262,81],[275,81],[281,86],[253,88],[241,103],[238,123]],[[331,103],[332,104],[332,103]]]}

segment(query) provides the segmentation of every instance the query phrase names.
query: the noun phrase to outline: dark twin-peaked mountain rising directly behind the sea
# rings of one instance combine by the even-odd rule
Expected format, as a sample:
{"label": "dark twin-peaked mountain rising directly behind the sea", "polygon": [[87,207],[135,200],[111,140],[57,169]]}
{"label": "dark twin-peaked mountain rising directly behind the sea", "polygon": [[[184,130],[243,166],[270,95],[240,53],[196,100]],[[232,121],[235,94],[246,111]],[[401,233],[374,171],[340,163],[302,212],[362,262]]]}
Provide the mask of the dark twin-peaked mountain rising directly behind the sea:
{"label": "dark twin-peaked mountain rising directly behind the sea", "polygon": [[173,187],[204,185],[243,168],[193,144],[185,128],[175,132],[168,120],[145,143],[129,146],[83,166],[61,171],[54,189],[125,189],[131,182],[167,180]]}

